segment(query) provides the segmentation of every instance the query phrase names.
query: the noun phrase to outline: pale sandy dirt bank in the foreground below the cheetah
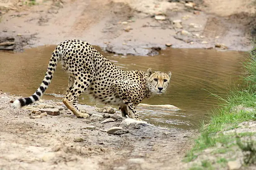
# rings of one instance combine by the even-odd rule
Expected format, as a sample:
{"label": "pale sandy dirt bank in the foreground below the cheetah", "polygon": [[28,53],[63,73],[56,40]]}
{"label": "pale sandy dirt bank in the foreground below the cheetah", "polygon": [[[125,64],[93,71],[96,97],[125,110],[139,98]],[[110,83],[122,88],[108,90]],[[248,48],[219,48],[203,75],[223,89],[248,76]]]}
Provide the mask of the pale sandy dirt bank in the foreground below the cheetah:
{"label": "pale sandy dirt bank in the foreground below the cheetah", "polygon": [[[117,116],[115,122],[106,123],[79,119],[61,102],[52,100],[41,100],[27,109],[54,105],[63,107],[60,115],[37,115],[27,109],[13,109],[10,101],[15,98],[0,94],[0,168],[5,170],[182,169],[186,165],[181,160],[196,134],[145,124],[126,125],[123,131],[108,134],[105,130],[120,126],[123,118]],[[95,112],[94,107],[84,108]]]}

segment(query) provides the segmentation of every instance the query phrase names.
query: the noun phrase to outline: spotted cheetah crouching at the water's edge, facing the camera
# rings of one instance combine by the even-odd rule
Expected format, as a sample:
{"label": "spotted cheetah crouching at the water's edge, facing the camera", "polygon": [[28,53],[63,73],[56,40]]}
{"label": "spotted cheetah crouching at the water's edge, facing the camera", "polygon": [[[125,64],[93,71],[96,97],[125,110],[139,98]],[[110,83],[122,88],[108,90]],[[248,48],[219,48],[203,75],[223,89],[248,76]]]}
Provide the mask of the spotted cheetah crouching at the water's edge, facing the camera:
{"label": "spotted cheetah crouching at the water's edge, facing the camera", "polygon": [[166,74],[151,68],[146,72],[121,70],[88,42],[65,40],[54,49],[44,80],[36,92],[30,97],[15,100],[14,107],[29,105],[44,94],[58,61],[69,75],[67,92],[62,101],[78,118],[89,117],[76,105],[77,98],[87,92],[103,104],[119,106],[123,117],[128,115],[140,120],[135,107],[144,98],[166,92],[172,75],[172,72]]}

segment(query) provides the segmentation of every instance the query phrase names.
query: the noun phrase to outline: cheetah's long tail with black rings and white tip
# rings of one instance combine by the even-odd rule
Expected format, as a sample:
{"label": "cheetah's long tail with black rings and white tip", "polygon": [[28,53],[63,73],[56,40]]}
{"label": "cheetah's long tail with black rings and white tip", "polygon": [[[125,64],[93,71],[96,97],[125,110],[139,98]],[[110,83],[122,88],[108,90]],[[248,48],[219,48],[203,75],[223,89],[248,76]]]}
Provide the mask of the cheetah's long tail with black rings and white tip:
{"label": "cheetah's long tail with black rings and white tip", "polygon": [[[57,49],[58,48],[58,49]],[[37,100],[39,100],[40,97],[42,97],[42,95],[44,94],[44,92],[46,91],[46,89],[48,88],[51,79],[53,77],[54,71],[56,69],[57,66],[57,62],[59,61],[60,58],[60,54],[59,54],[59,50],[61,47],[56,47],[54,52],[51,55],[51,59],[47,68],[47,72],[44,76],[44,80],[42,81],[40,87],[38,87],[38,89],[36,90],[36,92],[31,95],[30,97],[24,97],[24,98],[19,98],[17,100],[15,100],[13,102],[13,106],[16,108],[20,108],[26,105],[29,105]]]}

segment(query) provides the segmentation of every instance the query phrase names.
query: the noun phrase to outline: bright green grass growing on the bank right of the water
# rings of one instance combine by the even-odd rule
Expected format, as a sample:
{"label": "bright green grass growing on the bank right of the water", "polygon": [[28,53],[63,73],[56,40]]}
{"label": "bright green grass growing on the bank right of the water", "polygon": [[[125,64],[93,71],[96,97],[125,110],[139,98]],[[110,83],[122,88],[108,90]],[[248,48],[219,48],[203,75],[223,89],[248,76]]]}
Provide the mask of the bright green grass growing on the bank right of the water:
{"label": "bright green grass growing on the bank right of the water", "polygon": [[[240,137],[251,136],[254,133],[225,134],[224,131],[238,128],[239,123],[244,121],[256,120],[256,48],[250,52],[248,60],[243,63],[245,73],[243,86],[233,87],[228,96],[223,99],[218,95],[222,103],[212,111],[210,122],[200,130],[200,136],[195,140],[194,147],[189,150],[184,161],[189,162],[197,158],[198,153],[206,148],[216,146],[220,143],[225,149],[219,152],[230,150],[233,145],[238,145],[236,135]],[[249,108],[249,109],[248,109]],[[223,162],[219,160],[219,162]],[[203,166],[203,165],[202,165]],[[204,166],[203,166],[204,167]]]}

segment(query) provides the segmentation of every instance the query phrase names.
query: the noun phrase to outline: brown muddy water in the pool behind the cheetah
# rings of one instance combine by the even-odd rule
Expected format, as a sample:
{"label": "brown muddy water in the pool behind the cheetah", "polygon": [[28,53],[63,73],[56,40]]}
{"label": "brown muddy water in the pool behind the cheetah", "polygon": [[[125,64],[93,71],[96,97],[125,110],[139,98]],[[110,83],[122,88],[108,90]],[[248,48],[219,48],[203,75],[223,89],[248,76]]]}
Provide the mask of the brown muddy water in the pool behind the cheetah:
{"label": "brown muddy water in the pool behind the cheetah", "polygon": [[[15,54],[0,52],[0,90],[23,96],[33,94],[41,84],[54,47],[55,45],[42,46]],[[209,110],[218,101],[215,97],[209,97],[210,93],[206,90],[224,97],[229,85],[238,83],[237,75],[241,72],[239,63],[246,56],[234,51],[172,48],[161,51],[160,55],[154,57],[104,55],[123,70],[147,70],[152,67],[154,70],[172,71],[168,92],[144,100],[143,103],[171,104],[181,110],[138,107],[138,112],[143,120],[175,129],[198,128],[202,120],[209,119]],[[46,93],[64,94],[66,87],[67,75],[61,67],[57,67]],[[43,96],[43,99],[50,98],[60,99]],[[86,95],[82,95],[79,102],[95,105]]]}

